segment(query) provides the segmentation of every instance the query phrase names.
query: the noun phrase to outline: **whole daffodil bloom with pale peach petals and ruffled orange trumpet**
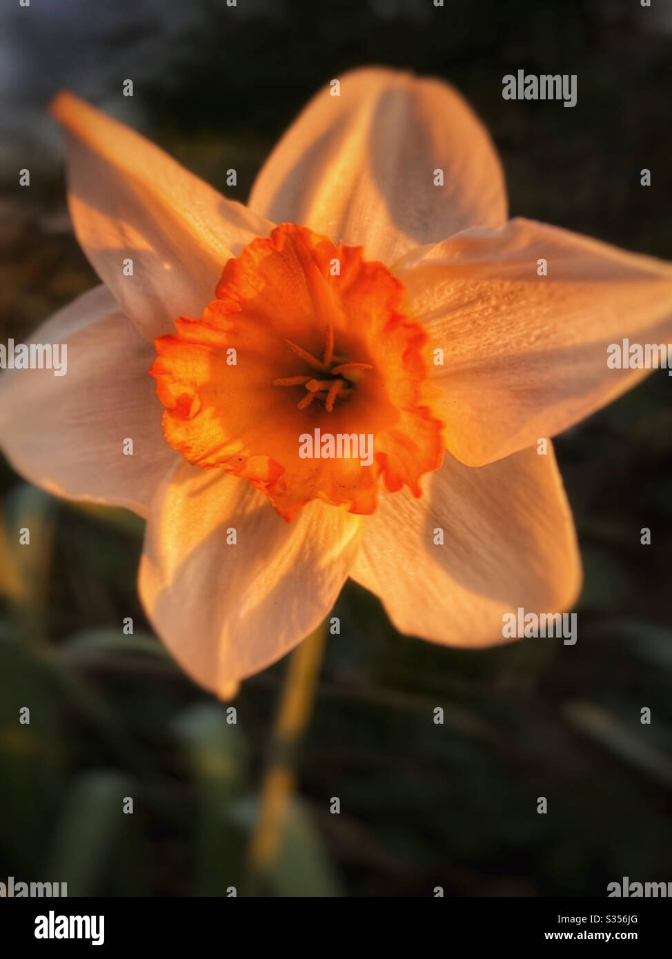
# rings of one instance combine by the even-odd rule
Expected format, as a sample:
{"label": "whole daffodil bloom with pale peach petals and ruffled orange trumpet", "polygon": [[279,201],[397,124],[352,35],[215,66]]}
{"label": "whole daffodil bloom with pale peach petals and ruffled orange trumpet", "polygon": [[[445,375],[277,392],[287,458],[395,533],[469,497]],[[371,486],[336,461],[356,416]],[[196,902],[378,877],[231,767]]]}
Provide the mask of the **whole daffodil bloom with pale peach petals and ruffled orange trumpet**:
{"label": "whole daffodil bloom with pale peach petals and ruffled orange trumpet", "polygon": [[[72,220],[104,285],[35,333],[67,343],[67,376],[1,385],[19,473],[147,517],[148,616],[220,694],[348,576],[435,643],[567,609],[576,536],[538,440],[645,375],[611,369],[610,342],[669,339],[672,268],[507,222],[498,155],[448,85],[365,69],[333,92],[246,207],[60,94]],[[372,462],[299,456],[315,429],[371,435]]]}

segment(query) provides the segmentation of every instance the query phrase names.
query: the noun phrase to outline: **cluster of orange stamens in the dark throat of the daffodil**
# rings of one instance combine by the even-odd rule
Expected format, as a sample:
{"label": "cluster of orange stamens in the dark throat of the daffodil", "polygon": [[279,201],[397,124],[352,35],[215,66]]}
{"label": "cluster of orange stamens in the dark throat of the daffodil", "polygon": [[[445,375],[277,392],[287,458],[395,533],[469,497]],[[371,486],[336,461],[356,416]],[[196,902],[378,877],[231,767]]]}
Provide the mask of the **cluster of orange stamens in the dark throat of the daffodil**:
{"label": "cluster of orange stamens in the dark throat of the daffodil", "polygon": [[281,376],[273,380],[273,386],[305,386],[306,394],[296,404],[296,409],[306,409],[317,401],[328,413],[334,409],[336,400],[342,402],[352,393],[357,384],[358,374],[364,369],[373,369],[371,363],[350,363],[345,357],[334,353],[334,327],[327,323],[324,351],[322,359],[313,357],[312,353],[298,346],[290,339],[285,340],[292,353],[301,357],[315,373],[299,376]]}

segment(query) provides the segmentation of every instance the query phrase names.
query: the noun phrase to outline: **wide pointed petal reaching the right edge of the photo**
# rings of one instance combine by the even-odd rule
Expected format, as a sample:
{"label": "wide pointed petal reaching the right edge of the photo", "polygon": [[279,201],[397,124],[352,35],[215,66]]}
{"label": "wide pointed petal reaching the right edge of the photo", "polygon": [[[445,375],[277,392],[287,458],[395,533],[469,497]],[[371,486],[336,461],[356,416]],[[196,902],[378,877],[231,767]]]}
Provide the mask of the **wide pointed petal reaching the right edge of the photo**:
{"label": "wide pointed petal reaching the right edge of the photo", "polygon": [[432,371],[448,448],[472,466],[561,433],[647,375],[610,368],[610,344],[672,342],[672,265],[544,223],[467,231],[395,269],[443,350]]}

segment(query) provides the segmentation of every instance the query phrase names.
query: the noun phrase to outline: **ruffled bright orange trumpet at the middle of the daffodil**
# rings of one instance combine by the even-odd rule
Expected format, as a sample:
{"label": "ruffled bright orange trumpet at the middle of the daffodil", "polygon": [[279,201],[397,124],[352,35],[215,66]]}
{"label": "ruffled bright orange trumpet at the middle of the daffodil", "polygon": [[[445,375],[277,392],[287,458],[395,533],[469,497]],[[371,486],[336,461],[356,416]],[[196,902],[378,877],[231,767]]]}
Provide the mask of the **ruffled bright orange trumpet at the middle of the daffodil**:
{"label": "ruffled bright orange trumpet at the middle of the daffodil", "polygon": [[443,424],[427,335],[389,269],[282,223],[226,263],[215,293],[155,341],[174,449],[248,479],[288,521],[313,499],[372,513],[379,481],[421,495]]}

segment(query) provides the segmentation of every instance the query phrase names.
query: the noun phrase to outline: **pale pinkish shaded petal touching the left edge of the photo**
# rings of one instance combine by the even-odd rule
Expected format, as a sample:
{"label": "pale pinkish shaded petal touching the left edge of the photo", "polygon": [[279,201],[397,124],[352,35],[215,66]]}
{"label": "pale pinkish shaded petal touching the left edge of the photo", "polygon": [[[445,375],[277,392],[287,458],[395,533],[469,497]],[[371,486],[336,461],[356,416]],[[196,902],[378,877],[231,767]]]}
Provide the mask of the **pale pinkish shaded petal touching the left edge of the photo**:
{"label": "pale pinkish shaded petal touching the left edge of the photo", "polygon": [[[0,376],[0,443],[14,469],[57,496],[146,515],[178,457],[161,430],[151,345],[104,287],[60,310],[31,342],[65,344],[67,366],[63,376],[52,369]],[[127,439],[132,456],[124,454]]]}

